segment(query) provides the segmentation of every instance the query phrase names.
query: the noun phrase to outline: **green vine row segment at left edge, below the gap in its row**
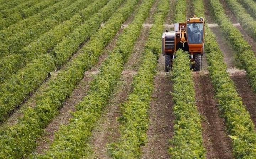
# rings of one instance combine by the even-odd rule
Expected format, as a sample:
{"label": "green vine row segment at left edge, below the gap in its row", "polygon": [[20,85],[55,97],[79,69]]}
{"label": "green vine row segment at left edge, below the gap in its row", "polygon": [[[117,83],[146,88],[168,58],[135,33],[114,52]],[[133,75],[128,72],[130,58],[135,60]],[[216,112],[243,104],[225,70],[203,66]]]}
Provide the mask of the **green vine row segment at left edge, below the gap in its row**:
{"label": "green vine row segment at left edge, below the gap in its row", "polygon": [[9,114],[41,85],[54,68],[53,58],[47,54],[41,55],[12,76],[7,83],[1,84],[0,122],[9,117]]}

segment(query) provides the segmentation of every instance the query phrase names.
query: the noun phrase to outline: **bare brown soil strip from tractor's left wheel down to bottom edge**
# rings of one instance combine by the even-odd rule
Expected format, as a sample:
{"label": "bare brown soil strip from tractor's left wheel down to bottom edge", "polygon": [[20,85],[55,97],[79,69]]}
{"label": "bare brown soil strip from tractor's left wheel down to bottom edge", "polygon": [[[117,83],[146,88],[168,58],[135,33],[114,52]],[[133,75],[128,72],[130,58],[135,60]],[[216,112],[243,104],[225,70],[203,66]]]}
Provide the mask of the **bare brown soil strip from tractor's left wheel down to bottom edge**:
{"label": "bare brown soil strip from tractor's left wheel down to bottom edge", "polygon": [[[161,64],[159,62],[159,64]],[[143,147],[142,159],[169,159],[169,139],[173,135],[172,83],[166,73],[158,72],[149,110],[148,143]]]}

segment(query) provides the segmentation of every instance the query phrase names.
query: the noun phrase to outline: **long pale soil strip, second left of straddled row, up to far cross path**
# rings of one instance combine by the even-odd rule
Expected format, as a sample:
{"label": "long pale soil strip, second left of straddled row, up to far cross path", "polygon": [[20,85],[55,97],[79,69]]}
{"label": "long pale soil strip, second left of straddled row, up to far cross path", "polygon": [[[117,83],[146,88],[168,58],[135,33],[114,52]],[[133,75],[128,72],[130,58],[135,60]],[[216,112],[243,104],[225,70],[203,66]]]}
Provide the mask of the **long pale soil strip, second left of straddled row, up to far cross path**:
{"label": "long pale soil strip, second left of straddled row, up to far cross path", "polygon": [[118,133],[118,121],[120,110],[119,105],[123,103],[129,92],[132,90],[133,76],[139,67],[140,56],[144,50],[146,39],[148,38],[149,28],[144,28],[140,35],[133,54],[128,58],[128,62],[124,65],[124,71],[121,76],[121,83],[116,88],[113,98],[110,100],[110,104],[106,107],[105,113],[99,121],[98,126],[93,131],[93,137],[91,140],[92,149],[95,152],[94,158],[109,159],[107,154],[107,144],[115,142],[119,137]]}

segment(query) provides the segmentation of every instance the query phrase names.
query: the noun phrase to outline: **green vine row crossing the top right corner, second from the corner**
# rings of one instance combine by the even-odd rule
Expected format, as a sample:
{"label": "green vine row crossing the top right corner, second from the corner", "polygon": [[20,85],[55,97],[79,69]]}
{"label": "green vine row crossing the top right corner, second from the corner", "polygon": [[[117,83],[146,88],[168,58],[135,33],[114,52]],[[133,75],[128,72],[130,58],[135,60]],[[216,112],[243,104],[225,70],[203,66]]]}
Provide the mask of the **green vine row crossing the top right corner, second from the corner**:
{"label": "green vine row crossing the top right corner, second from the corner", "polygon": [[[225,0],[229,7],[231,8],[231,11],[236,16],[236,19],[238,19],[238,22],[242,26],[242,28],[245,30],[245,32],[256,41],[256,21],[254,18],[252,18],[248,13],[246,13],[245,8],[242,7],[236,0]],[[254,2],[255,4],[255,2]],[[256,4],[254,5],[256,6]],[[256,8],[254,8],[256,10]],[[254,10],[250,10],[249,12],[256,16],[256,12]]]}

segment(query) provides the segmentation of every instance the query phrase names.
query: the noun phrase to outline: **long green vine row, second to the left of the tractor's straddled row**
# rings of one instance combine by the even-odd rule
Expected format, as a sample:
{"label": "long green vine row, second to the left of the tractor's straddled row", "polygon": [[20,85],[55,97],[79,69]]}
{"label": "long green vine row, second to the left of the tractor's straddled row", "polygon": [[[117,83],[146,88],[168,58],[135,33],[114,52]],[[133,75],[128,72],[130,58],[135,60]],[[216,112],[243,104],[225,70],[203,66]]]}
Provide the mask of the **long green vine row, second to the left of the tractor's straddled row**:
{"label": "long green vine row, second to the left of the tractor's straddled row", "polygon": [[[142,2],[133,22],[119,36],[116,48],[103,63],[100,73],[91,82],[88,95],[76,105],[76,112],[73,113],[74,118],[71,119],[71,123],[62,127],[56,134],[57,137],[50,150],[47,151],[47,155],[39,156],[39,158],[90,157],[92,151],[89,151],[85,141],[91,136],[91,130],[101,116],[102,109],[106,106],[108,98],[119,80],[123,70],[124,59],[132,52],[153,1],[144,0]],[[66,141],[66,138],[70,140]],[[76,149],[78,152],[70,151],[72,149]]]}

